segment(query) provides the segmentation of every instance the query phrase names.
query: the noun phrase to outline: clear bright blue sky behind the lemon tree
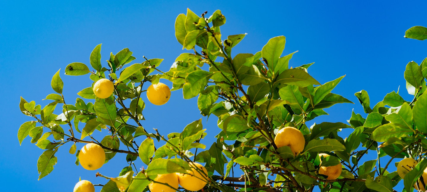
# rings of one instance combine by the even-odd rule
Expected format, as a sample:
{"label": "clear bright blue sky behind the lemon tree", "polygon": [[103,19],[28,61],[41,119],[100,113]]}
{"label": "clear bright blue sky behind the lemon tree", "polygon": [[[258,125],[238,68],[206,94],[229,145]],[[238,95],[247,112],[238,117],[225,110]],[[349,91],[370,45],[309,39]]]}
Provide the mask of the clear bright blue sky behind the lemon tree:
{"label": "clear bright blue sky behind the lemon tree", "polygon": [[[221,26],[223,37],[247,33],[233,49],[234,54],[254,54],[270,38],[284,35],[287,43],[283,55],[299,51],[290,66],[315,62],[309,73],[320,83],[346,75],[333,92],[356,104],[333,106],[325,110],[329,116],[307,124],[346,122],[352,110],[366,117],[354,96],[362,89],[369,93],[371,107],[387,93],[397,92],[399,86],[401,95],[412,100],[405,89],[403,73],[408,62],[421,63],[427,57],[427,42],[406,39],[404,32],[412,26],[427,26],[426,6],[421,1],[0,1],[0,181],[8,183],[2,189],[71,191],[79,177],[105,184],[104,178],[95,178],[97,171],[115,177],[127,166],[126,155],[117,154],[101,169],[85,170],[74,164],[75,155],[68,153],[70,145],[66,145],[56,153],[58,163],[53,172],[37,181],[36,165],[43,150],[30,143],[29,138],[19,146],[17,139],[19,126],[33,120],[20,112],[20,96],[35,100],[42,107],[48,104],[42,99],[54,93],[50,81],[61,69],[65,100],[74,104],[76,93],[91,86],[91,80],[89,75],[64,75],[65,66],[73,62],[90,66],[89,55],[99,43],[103,65],[110,52],[115,54],[127,47],[137,58],[132,63],[143,62],[143,55],[164,58],[159,69],[168,71],[175,58],[186,52],[175,38],[178,14],[186,13],[187,8],[198,15],[204,11],[211,15],[220,9],[227,19]],[[167,80],[161,82],[172,87]],[[184,100],[179,90],[172,92],[170,101],[163,106],[146,103],[143,126],[147,130],[158,128],[164,135],[182,130],[202,117],[196,98]],[[143,99],[146,100],[145,95]],[[202,143],[208,146],[220,130],[216,120],[214,116],[203,118],[208,136]],[[99,136],[102,134],[106,134],[105,130]],[[77,143],[78,149],[82,146]],[[368,156],[366,160],[375,158],[376,155]],[[137,168],[143,166],[136,162]],[[389,170],[392,172],[395,167],[390,166]],[[402,188],[403,182],[395,189]],[[100,191],[101,187],[95,189]]]}

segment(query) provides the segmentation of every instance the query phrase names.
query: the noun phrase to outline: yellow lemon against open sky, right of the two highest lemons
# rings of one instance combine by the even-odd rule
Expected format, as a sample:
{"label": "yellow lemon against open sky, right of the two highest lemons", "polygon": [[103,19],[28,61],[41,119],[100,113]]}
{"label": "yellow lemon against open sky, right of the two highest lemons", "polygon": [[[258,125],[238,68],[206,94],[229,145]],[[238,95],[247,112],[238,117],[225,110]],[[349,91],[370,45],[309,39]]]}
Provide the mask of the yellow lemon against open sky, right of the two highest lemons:
{"label": "yellow lemon against open sky, right of the two highest lemons", "polygon": [[163,105],[170,98],[170,89],[163,83],[152,84],[147,89],[147,98],[155,105]]}

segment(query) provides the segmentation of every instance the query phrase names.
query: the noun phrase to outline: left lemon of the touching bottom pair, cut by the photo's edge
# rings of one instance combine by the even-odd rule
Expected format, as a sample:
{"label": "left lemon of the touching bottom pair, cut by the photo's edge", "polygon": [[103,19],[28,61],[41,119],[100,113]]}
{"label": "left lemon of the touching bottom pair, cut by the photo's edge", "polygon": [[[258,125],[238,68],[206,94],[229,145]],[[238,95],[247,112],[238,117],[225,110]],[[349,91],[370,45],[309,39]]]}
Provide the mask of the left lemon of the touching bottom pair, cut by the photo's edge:
{"label": "left lemon of the touching bottom pair, cut by the photo's edge", "polygon": [[[175,192],[175,189],[178,189],[178,175],[176,175],[175,173],[157,175],[154,181],[160,183],[151,182],[148,185],[148,188],[151,192]],[[175,189],[161,183],[167,183]]]}

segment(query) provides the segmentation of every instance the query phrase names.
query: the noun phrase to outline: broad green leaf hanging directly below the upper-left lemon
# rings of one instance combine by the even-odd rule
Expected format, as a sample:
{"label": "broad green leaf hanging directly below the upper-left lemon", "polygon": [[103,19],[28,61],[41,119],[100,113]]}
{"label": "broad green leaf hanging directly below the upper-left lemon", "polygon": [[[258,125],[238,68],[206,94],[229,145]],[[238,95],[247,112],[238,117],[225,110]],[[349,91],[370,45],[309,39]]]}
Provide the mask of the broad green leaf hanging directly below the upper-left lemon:
{"label": "broad green leaf hanging directly below the upper-left lemon", "polygon": [[98,119],[105,125],[115,127],[117,112],[116,105],[114,101],[111,100],[111,97],[101,99],[96,98],[94,104],[95,112],[97,113]]}

